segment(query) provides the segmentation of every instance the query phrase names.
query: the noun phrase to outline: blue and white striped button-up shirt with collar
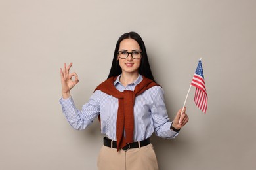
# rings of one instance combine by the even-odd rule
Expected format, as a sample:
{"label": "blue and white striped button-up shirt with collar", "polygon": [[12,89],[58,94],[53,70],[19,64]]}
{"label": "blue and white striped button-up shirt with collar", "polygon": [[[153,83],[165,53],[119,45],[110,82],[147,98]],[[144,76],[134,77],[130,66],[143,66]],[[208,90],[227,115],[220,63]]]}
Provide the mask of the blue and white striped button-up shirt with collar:
{"label": "blue and white striped button-up shirt with collar", "polygon": [[[119,75],[114,82],[117,90],[134,90],[142,81],[139,75],[137,80],[126,87],[119,81]],[[96,90],[89,102],[83,105],[82,110],[75,107],[72,97],[60,99],[62,110],[68,122],[74,129],[85,129],[100,114],[101,133],[116,141],[116,120],[118,99]],[[155,131],[156,135],[165,139],[174,138],[178,133],[170,129],[171,123],[167,115],[163,88],[153,86],[135,98],[134,105],[135,131],[134,141],[147,139]]]}

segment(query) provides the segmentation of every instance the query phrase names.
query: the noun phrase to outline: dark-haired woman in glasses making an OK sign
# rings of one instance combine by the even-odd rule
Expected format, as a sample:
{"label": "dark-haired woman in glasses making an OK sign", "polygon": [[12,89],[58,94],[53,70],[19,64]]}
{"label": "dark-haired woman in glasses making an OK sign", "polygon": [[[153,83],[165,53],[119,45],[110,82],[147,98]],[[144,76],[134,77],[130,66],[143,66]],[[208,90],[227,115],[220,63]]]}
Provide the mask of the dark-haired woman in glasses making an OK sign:
{"label": "dark-haired woman in glasses making an OK sign", "polygon": [[[164,103],[163,89],[156,84],[146,48],[135,32],[121,35],[116,44],[108,79],[100,84],[82,110],[75,107],[70,90],[79,82],[69,73],[72,63],[60,69],[62,110],[72,127],[85,129],[100,119],[104,145],[98,156],[98,169],[158,169],[150,143],[153,132],[174,138],[188,122],[181,109],[171,122]],[[75,77],[72,80],[72,77]]]}

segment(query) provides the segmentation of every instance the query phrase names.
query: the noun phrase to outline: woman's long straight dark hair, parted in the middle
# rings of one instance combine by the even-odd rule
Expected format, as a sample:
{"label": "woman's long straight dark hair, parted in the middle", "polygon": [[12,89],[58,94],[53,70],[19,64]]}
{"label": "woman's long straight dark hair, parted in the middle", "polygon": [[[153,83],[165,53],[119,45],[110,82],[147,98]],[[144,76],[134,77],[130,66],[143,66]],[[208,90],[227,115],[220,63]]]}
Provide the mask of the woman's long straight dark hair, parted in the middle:
{"label": "woman's long straight dark hair, parted in the middle", "polygon": [[146,46],[145,46],[142,38],[140,37],[140,35],[135,32],[124,33],[123,35],[121,35],[121,37],[116,42],[114,58],[112,61],[112,66],[111,66],[108,78],[110,78],[112,76],[120,75],[122,73],[121,67],[119,65],[119,61],[117,60],[117,52],[119,50],[120,42],[123,41],[123,39],[134,39],[135,41],[138,42],[140,49],[142,50],[142,58],[141,58],[141,63],[140,63],[140,67],[139,67],[139,73],[140,73],[140,75],[143,75],[146,78],[149,78],[149,79],[153,80],[154,82],[156,82],[154,80],[154,76],[151,72],[150,64],[148,62],[148,54],[146,54]]}

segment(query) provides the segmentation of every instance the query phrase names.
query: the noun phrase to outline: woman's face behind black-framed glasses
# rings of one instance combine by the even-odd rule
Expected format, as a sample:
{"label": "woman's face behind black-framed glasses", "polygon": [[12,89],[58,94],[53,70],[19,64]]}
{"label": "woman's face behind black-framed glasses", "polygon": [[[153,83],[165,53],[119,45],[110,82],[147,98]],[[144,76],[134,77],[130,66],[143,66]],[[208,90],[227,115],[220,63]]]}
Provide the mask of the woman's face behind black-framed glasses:
{"label": "woman's face behind black-framed glasses", "polygon": [[[118,51],[141,52],[141,49],[138,42],[134,39],[123,39],[123,41],[120,42]],[[129,54],[128,57],[125,59],[121,59],[119,58],[119,56],[117,56],[117,59],[119,60],[119,65],[122,69],[122,73],[138,74],[141,58],[142,57],[140,57],[139,59],[134,59],[131,57],[131,54]]]}

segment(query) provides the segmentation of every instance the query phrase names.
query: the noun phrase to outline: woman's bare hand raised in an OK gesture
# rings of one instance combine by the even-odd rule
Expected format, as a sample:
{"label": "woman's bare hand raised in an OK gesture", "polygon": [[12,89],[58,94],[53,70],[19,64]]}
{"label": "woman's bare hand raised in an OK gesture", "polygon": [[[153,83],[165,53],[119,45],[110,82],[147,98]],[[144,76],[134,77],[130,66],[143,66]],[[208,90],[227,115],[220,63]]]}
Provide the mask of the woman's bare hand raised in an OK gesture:
{"label": "woman's bare hand raised in an OK gesture", "polygon": [[[70,73],[70,68],[72,66],[72,63],[66,67],[66,63],[64,63],[63,69],[60,69],[60,78],[61,78],[61,84],[62,84],[62,97],[63,99],[66,99],[70,97],[70,90],[79,82],[77,74]],[[72,77],[75,79],[72,80]]]}

